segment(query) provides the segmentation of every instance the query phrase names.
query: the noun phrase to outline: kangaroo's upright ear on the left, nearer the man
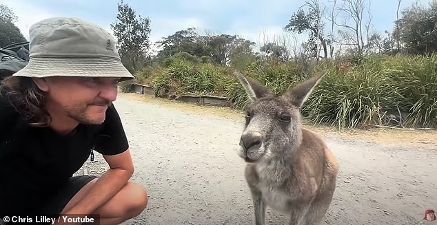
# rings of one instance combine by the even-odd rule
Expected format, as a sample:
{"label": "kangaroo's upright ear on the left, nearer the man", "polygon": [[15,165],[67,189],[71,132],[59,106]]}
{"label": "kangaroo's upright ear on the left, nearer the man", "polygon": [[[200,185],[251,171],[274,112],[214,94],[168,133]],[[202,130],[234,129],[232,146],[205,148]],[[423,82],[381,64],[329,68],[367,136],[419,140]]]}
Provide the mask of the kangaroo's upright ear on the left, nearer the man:
{"label": "kangaroo's upright ear on the left, nearer the man", "polygon": [[249,96],[252,102],[258,98],[274,96],[274,94],[267,89],[267,87],[261,85],[261,83],[258,83],[257,81],[254,81],[252,78],[246,78],[240,72],[234,72],[234,74],[240,81],[241,85],[243,85],[247,96]]}

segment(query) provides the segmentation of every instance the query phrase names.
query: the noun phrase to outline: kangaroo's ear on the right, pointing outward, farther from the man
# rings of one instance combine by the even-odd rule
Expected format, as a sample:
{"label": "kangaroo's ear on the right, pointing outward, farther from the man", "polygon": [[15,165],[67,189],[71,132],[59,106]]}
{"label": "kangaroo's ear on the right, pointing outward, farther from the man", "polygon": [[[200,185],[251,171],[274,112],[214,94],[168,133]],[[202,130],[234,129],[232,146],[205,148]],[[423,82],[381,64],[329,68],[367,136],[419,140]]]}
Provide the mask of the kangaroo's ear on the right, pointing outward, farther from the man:
{"label": "kangaroo's ear on the right, pointing outward, farther from the man", "polygon": [[286,100],[290,101],[294,106],[300,108],[303,103],[305,103],[305,100],[307,100],[309,94],[311,94],[314,87],[316,87],[316,85],[325,75],[325,71],[320,72],[309,80],[304,81],[303,83],[300,83],[295,87],[292,87],[291,89],[288,89],[287,92],[283,94],[282,98],[285,98]]}

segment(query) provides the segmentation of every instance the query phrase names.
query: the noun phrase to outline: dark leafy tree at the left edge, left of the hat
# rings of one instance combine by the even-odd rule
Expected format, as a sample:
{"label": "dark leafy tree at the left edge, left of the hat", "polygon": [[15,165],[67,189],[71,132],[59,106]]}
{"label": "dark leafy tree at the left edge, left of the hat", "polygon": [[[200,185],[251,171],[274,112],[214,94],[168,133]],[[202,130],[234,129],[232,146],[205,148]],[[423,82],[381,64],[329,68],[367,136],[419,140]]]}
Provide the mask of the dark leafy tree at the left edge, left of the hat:
{"label": "dark leafy tree at the left edge, left of the hat", "polygon": [[27,41],[20,29],[14,25],[17,20],[18,17],[8,6],[0,4],[0,47]]}

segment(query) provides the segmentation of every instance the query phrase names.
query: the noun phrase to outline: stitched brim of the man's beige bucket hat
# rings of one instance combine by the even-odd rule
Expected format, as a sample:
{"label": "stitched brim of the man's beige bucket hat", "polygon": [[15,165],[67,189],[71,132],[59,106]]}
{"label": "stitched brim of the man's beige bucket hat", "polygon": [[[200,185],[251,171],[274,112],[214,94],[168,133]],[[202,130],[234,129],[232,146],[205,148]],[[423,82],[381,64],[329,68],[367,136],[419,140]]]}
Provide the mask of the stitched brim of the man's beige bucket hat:
{"label": "stitched brim of the man's beige bucket hat", "polygon": [[103,57],[38,57],[30,58],[26,67],[12,76],[44,78],[49,76],[114,77],[133,79],[121,61]]}

